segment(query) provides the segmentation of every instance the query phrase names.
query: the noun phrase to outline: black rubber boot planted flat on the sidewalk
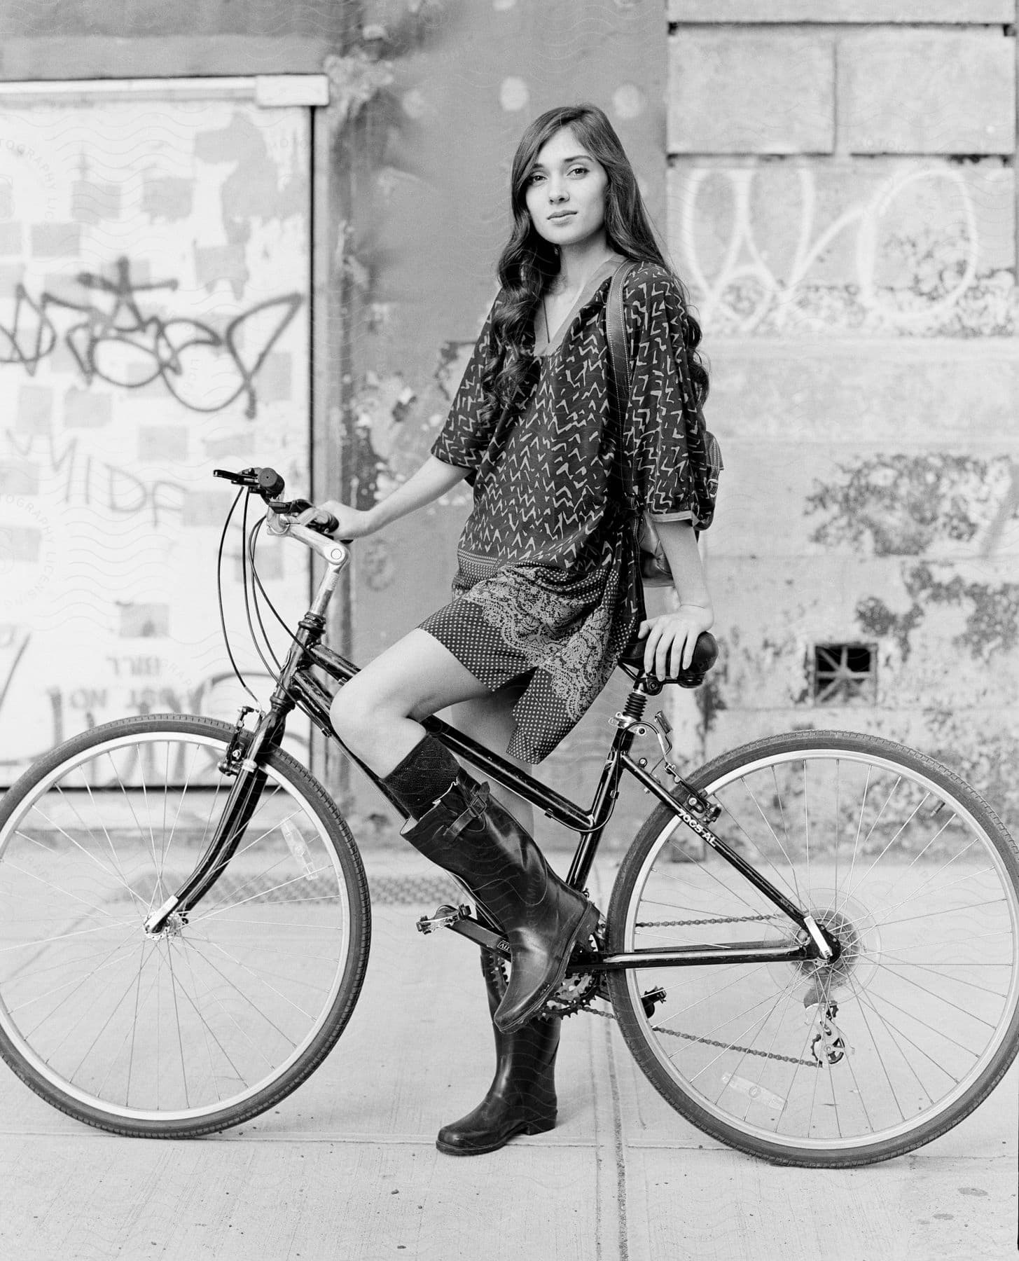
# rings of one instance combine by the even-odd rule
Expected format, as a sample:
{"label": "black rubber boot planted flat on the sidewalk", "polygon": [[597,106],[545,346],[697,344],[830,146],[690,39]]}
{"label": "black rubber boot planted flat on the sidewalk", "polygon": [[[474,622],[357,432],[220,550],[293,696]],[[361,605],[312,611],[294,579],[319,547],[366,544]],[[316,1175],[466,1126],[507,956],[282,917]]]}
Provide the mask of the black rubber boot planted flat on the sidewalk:
{"label": "black rubber boot planted flat on the sidewalk", "polygon": [[[498,963],[482,955],[482,972],[488,992],[488,1011],[494,1016],[499,991],[492,970]],[[449,1156],[480,1156],[496,1151],[518,1134],[545,1134],[555,1129],[555,1057],[559,1050],[559,1016],[535,1018],[516,1033],[499,1033],[496,1025],[496,1076],[488,1093],[467,1116],[444,1125],[435,1140]]]}

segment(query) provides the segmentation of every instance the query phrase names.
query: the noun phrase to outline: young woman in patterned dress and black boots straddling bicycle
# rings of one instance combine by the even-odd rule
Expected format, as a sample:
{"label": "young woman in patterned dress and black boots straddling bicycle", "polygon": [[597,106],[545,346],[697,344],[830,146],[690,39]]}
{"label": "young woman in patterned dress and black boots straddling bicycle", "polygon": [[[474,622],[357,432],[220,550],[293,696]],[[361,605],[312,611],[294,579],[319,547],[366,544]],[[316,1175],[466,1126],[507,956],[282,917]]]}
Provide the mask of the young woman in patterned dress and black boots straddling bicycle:
{"label": "young woman in patterned dress and black boots straddling bicycle", "polygon": [[[555,1124],[556,1019],[536,1016],[561,982],[597,909],[549,868],[531,808],[478,784],[420,719],[454,706],[457,725],[518,764],[541,762],[605,685],[634,634],[665,677],[690,663],[713,622],[695,527],[710,522],[686,443],[690,409],[675,354],[695,386],[700,328],[665,262],[637,180],[602,110],[550,110],[526,130],[511,174],[513,230],[501,289],[433,445],[388,498],[361,512],[322,504],[356,538],[467,478],[474,509],[458,550],[453,599],[341,689],[341,740],[383,777],[409,815],[404,836],[462,880],[511,947],[502,1001],[491,976],[497,1069],[483,1102],[445,1126],[451,1154],[492,1151]],[[624,289],[632,390],[622,425],[608,407],[605,299]],[[626,468],[655,521],[678,605],[641,620]],[[615,482],[614,482],[615,478]]]}

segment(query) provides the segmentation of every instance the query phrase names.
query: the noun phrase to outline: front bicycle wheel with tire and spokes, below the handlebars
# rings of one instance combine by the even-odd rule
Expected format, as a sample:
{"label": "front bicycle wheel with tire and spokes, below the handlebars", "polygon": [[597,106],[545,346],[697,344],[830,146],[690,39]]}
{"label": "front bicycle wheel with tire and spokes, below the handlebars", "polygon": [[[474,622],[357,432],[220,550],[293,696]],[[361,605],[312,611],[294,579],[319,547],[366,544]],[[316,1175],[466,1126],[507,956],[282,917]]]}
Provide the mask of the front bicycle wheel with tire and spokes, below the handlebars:
{"label": "front bicycle wheel with tire and spokes, below the handlebars", "polygon": [[[114,1134],[194,1137],[275,1106],[333,1048],[364,979],[357,846],[281,749],[218,881],[187,922],[145,934],[218,817],[231,781],[214,768],[232,734],[178,714],[107,723],[50,750],[0,802],[0,1057],[47,1102]],[[103,1023],[125,976],[130,996]],[[64,1067],[82,1047],[81,1066]]]}

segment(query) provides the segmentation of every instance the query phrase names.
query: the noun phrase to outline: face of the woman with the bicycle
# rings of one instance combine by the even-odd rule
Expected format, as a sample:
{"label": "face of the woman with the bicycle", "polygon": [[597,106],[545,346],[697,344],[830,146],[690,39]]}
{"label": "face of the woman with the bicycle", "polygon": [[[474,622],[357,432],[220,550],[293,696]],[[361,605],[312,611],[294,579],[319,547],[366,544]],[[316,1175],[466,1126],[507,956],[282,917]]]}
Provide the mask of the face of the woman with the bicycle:
{"label": "face of the woman with the bicycle", "polygon": [[526,180],[525,200],[539,236],[552,245],[581,245],[604,236],[605,168],[586,153],[569,127],[539,150]]}

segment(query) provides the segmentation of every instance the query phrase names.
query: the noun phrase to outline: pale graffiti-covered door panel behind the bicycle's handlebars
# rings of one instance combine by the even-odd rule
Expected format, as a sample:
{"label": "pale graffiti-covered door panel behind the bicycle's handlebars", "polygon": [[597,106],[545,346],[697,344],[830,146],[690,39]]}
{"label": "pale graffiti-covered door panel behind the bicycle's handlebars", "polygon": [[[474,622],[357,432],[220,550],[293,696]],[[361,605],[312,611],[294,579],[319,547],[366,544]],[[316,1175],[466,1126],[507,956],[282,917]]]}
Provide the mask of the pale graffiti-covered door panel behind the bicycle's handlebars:
{"label": "pale graffiti-covered door panel behind the bicycle's handlebars", "polygon": [[[0,783],[110,719],[250,700],[212,469],[306,491],[310,280],[306,110],[97,98],[5,124],[52,156],[0,183]],[[260,575],[299,615],[308,557],[285,551]]]}

